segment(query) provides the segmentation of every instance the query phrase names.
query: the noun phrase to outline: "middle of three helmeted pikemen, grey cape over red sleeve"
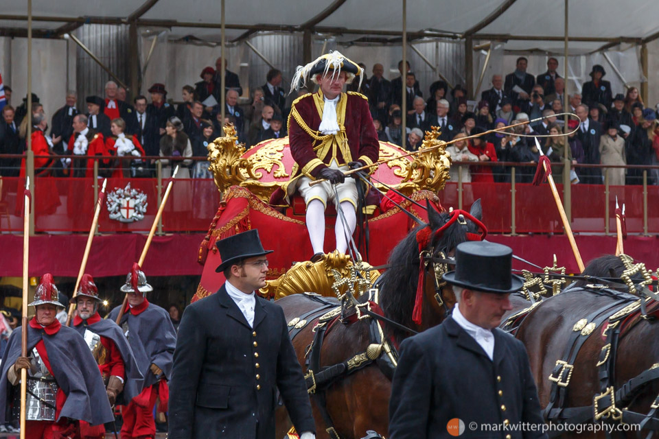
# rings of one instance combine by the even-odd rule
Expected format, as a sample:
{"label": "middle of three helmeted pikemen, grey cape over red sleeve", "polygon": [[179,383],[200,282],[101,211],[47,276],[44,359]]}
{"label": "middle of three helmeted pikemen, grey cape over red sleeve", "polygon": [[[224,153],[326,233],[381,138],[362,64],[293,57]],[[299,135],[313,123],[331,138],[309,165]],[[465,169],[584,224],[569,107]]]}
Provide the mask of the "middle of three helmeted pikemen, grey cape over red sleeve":
{"label": "middle of three helmeted pikemen, grey cape over red sleeve", "polygon": [[[82,335],[94,355],[106,383],[110,404],[128,404],[141,391],[142,375],[122,329],[114,320],[102,319],[99,315],[98,304],[101,300],[94,278],[90,274],[82,276],[73,300],[76,302],[73,328]],[[81,421],[80,436],[83,439],[102,439],[105,436],[105,428],[103,425],[91,427]]]}

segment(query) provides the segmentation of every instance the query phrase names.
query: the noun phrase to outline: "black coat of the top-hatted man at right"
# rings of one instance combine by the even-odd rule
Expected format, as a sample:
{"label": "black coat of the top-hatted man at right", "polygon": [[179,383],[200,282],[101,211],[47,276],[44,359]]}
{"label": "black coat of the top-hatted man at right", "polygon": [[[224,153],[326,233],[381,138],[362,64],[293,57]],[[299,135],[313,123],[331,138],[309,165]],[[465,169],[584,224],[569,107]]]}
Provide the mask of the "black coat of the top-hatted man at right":
{"label": "black coat of the top-hatted man at right", "polygon": [[452,438],[452,418],[463,438],[546,438],[527,431],[481,431],[470,423],[543,424],[524,345],[494,329],[494,361],[452,318],[401,344],[389,401],[392,439]]}

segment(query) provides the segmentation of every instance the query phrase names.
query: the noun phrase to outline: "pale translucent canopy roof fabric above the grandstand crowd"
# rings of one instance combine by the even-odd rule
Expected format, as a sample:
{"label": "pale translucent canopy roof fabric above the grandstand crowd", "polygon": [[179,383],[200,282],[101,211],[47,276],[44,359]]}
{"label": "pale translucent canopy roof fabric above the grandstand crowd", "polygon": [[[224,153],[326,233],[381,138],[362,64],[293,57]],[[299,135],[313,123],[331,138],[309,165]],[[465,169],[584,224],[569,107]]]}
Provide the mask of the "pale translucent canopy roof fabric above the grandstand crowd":
{"label": "pale translucent canopy roof fabric above the grandstand crowd", "polygon": [[[638,13],[654,10],[655,3],[636,0],[632,8],[629,2],[613,0],[570,1],[570,37],[596,40],[570,40],[570,49],[592,50],[599,47],[595,43],[603,45],[607,39],[621,36],[636,43],[656,37],[659,22],[652,14]],[[27,2],[0,0],[0,5],[2,27],[26,27]],[[316,32],[354,34],[354,39],[369,34],[395,38],[402,31],[400,0],[281,0],[276,7],[264,5],[262,0],[226,0],[225,5],[227,40],[238,38],[246,29],[292,31],[302,30],[308,23]],[[132,17],[140,25],[170,28],[170,38],[220,39],[218,0],[189,0],[185,8],[178,0],[33,0],[32,12],[37,35],[59,36],[52,31],[71,22],[119,24]],[[462,38],[467,30],[496,12],[501,13],[476,32],[474,39],[509,39],[516,42],[512,50],[562,50],[556,40],[564,34],[564,6],[556,1],[408,0],[407,31],[417,38],[424,36],[423,32]]]}

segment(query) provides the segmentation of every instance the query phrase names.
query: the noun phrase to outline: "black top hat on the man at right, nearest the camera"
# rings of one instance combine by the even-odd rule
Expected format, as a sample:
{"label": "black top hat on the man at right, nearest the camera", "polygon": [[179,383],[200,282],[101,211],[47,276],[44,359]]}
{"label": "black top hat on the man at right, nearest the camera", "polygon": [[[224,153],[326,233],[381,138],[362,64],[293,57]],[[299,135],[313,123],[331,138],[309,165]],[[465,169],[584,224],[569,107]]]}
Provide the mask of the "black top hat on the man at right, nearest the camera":
{"label": "black top hat on the man at right, nearest the camera", "polygon": [[455,271],[444,281],[474,291],[507,294],[522,288],[524,281],[511,273],[513,250],[489,241],[467,241],[455,250]]}

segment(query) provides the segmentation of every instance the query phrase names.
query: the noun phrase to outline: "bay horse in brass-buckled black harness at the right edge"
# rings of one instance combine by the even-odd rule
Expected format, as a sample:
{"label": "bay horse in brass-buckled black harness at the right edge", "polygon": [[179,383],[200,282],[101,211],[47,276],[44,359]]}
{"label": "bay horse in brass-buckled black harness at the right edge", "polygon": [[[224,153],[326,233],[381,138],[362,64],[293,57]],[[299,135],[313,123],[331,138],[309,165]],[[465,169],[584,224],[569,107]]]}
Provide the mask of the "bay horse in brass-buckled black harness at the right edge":
{"label": "bay horse in brass-buckled black harness at the right edge", "polygon": [[[619,279],[625,269],[610,256],[583,274]],[[521,322],[516,337],[529,353],[540,405],[546,420],[562,425],[562,437],[601,437],[611,433],[603,430],[608,426],[625,437],[659,429],[658,316],[659,302],[643,294],[579,281],[542,300]],[[586,431],[590,423],[597,425]],[[645,433],[629,431],[630,424],[642,424]]]}

